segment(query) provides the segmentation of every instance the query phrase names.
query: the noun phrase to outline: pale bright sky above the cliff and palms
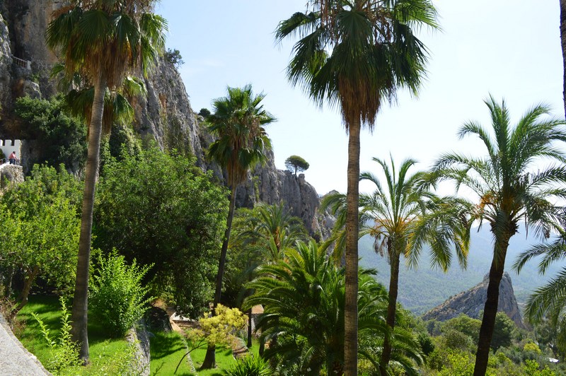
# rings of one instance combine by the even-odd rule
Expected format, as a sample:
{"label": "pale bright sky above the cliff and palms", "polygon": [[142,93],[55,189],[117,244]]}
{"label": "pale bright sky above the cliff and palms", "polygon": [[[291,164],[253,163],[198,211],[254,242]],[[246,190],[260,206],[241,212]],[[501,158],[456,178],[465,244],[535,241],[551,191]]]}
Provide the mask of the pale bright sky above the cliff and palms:
{"label": "pale bright sky above the cliff and palms", "polygon": [[[398,93],[383,105],[372,133],[362,130],[360,170],[379,173],[371,159],[399,165],[412,158],[429,168],[441,153],[485,153],[480,141],[456,136],[475,120],[490,127],[488,95],[503,98],[512,124],[541,102],[564,117],[558,0],[433,0],[441,30],[423,28],[429,49],[427,78],[415,98]],[[286,68],[296,40],[275,43],[279,21],[305,11],[306,0],[161,0],[156,13],[168,20],[167,47],[178,49],[192,109],[212,108],[226,86],[250,83],[266,94],[267,126],[277,168],[289,155],[310,163],[306,181],[318,194],[346,192],[347,134],[338,109],[313,104],[291,86]],[[370,186],[360,186],[362,192]]]}

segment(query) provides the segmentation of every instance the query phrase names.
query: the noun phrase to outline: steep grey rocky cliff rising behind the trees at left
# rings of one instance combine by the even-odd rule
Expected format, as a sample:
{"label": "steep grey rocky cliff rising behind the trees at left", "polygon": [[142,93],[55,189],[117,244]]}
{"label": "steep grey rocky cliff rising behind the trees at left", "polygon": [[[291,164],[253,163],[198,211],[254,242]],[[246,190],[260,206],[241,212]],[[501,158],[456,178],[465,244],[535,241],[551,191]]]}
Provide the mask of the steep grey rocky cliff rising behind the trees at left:
{"label": "steep grey rocky cliff rising behind the trees at left", "polygon": [[[0,1],[0,13],[4,16],[0,18],[0,136],[20,138],[18,120],[11,111],[13,98],[26,94],[47,98],[55,93],[56,85],[49,73],[57,57],[47,49],[43,36],[52,11],[62,3],[63,0]],[[18,59],[30,61],[31,69],[18,65]],[[160,61],[145,83],[147,95],[132,104],[137,114],[134,130],[142,137],[155,139],[163,149],[190,151],[197,158],[197,165],[203,170],[214,170],[224,182],[224,172],[204,158],[212,136],[202,118],[192,110],[175,66]],[[238,188],[238,206],[252,207],[258,202],[284,202],[294,216],[304,221],[311,235],[328,235],[325,224],[330,223],[330,217],[318,215],[316,190],[304,175],[295,177],[277,170],[272,153],[267,163],[250,172],[248,181]]]}

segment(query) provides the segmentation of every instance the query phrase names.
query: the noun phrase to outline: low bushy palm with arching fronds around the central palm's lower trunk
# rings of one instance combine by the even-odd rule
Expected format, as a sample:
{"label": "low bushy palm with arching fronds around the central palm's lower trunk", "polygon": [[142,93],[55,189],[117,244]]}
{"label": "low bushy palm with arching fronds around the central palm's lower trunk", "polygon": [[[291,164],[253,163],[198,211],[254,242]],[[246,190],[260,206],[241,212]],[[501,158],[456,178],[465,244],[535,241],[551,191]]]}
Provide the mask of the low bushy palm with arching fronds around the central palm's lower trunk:
{"label": "low bushy palm with arching fronds around the central palm's lower trunk", "polygon": [[[258,327],[262,337],[274,339],[266,358],[277,358],[279,365],[297,375],[342,375],[344,371],[345,270],[326,257],[324,249],[311,241],[287,249],[285,259],[265,264],[258,278],[248,287],[255,292],[244,307],[264,305]],[[372,271],[359,274],[359,353],[378,364],[374,348],[388,334],[384,319],[387,293],[376,282]],[[412,361],[420,363],[415,339],[405,332],[393,335],[395,345],[405,351],[395,353],[395,362],[413,371]]]}

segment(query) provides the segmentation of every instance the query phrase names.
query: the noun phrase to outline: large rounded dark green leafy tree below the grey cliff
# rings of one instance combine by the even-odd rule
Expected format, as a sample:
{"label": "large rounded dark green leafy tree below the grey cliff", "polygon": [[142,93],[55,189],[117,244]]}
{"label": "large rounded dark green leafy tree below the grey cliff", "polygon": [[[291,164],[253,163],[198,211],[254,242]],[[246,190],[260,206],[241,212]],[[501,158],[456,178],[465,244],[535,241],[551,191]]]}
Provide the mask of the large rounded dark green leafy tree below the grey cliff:
{"label": "large rounded dark green leafy tree below the grey cliff", "polygon": [[180,313],[204,312],[224,231],[224,189],[194,159],[152,148],[107,163],[98,192],[96,247],[154,264],[155,293],[171,295]]}

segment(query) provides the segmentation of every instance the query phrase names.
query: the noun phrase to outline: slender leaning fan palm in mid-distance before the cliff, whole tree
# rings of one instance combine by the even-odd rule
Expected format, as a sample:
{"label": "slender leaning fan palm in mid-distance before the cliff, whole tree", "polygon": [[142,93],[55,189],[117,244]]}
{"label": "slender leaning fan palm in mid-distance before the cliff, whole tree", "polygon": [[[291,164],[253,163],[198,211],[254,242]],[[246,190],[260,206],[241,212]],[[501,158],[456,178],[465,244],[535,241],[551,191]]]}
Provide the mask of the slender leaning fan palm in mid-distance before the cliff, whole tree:
{"label": "slender leaning fan palm in mid-distance before the cliff, whole tree", "polygon": [[[226,169],[230,188],[230,206],[226,220],[226,233],[220,252],[214,307],[218,305],[222,291],[222,277],[226,264],[226,250],[236,204],[236,188],[246,180],[248,170],[265,160],[265,151],[271,148],[271,141],[264,125],[275,121],[275,117],[263,109],[261,101],[265,94],[254,95],[251,85],[243,88],[228,87],[228,96],[214,100],[213,113],[207,117],[209,131],[217,137],[208,149],[207,156]],[[215,348],[209,346],[202,368],[213,368]]]}

